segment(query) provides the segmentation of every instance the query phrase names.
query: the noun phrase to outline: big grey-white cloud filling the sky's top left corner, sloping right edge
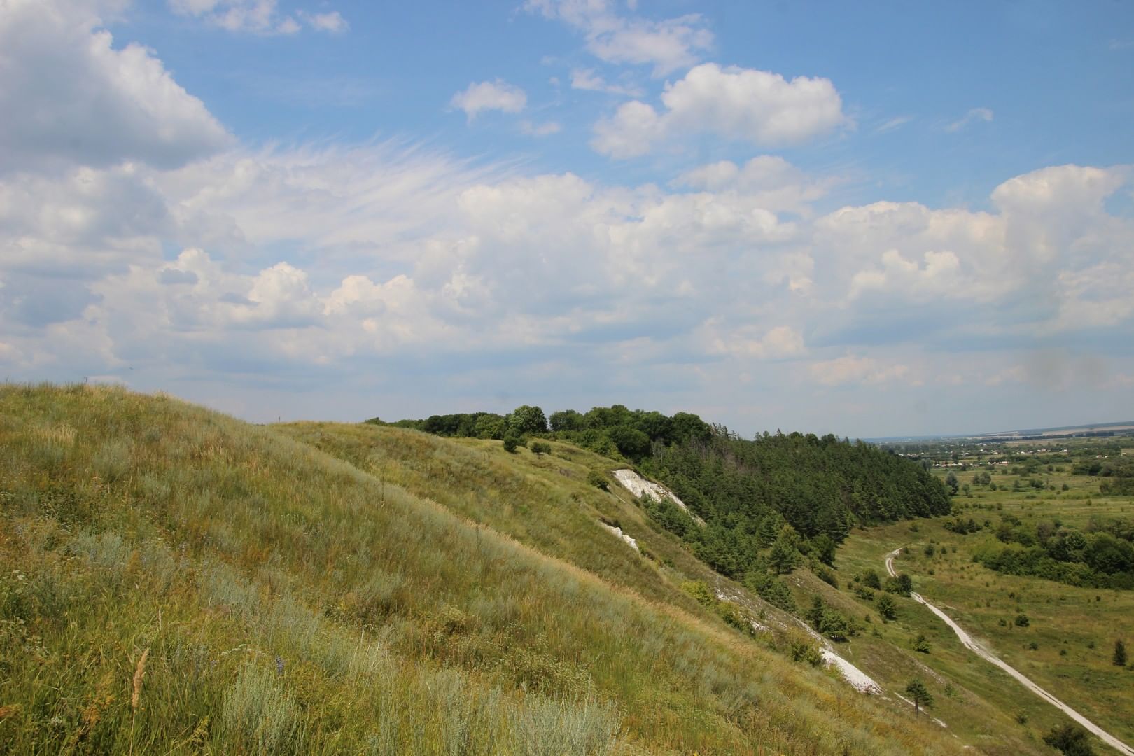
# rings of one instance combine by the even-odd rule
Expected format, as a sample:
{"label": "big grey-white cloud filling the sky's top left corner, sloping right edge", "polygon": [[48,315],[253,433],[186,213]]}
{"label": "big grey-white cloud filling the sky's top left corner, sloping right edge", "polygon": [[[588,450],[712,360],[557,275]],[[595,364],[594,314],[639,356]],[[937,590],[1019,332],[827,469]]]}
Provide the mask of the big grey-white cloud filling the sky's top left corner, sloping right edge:
{"label": "big grey-white cloud filling the sky's top left corner, sloping right edge", "polygon": [[162,168],[226,147],[204,104],[137,44],[111,46],[99,19],[67,2],[9,2],[0,12],[0,172]]}

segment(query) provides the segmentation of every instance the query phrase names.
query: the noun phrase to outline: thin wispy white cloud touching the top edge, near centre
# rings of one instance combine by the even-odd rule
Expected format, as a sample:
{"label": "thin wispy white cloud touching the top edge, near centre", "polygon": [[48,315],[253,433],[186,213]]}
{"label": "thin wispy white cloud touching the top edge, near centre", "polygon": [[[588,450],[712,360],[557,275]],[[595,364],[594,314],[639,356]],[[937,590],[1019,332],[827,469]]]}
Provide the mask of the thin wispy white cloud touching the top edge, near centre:
{"label": "thin wispy white cloud touching the top edge, near centre", "polygon": [[652,66],[655,77],[696,63],[713,42],[697,14],[650,20],[621,16],[606,0],[528,0],[524,7],[582,32],[587,50],[600,60]]}

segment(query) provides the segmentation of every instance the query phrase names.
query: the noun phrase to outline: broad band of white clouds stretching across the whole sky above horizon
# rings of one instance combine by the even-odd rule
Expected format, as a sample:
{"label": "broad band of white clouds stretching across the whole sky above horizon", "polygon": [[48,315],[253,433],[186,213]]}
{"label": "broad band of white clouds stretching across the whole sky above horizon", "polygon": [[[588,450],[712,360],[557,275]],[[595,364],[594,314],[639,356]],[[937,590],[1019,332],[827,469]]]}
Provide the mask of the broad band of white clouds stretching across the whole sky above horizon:
{"label": "broad band of white clouds stretching across the whole sky above horizon", "polygon": [[[668,192],[468,172],[395,145],[226,153],[164,172],[87,169],[69,182],[18,184],[23,204],[0,203],[12,221],[0,223],[0,245],[25,250],[0,264],[0,317],[10,324],[0,340],[20,359],[33,346],[43,358],[42,329],[52,328],[59,345],[82,342],[76,354],[104,365],[208,343],[200,355],[215,360],[210,369],[222,369],[236,345],[265,364],[330,365],[405,349],[625,341],[650,359],[815,359],[805,369],[821,385],[911,382],[920,373],[907,360],[863,350],[908,339],[909,314],[941,312],[936,303],[949,303],[950,328],[983,318],[985,335],[999,329],[1017,343],[1128,326],[1134,282],[1122,250],[1134,229],[1103,205],[1122,176],[1061,167],[1017,177],[997,190],[997,213],[874,203],[809,220],[778,206],[805,206],[818,180],[771,156],[695,169],[675,185],[688,190]],[[0,186],[15,196],[11,181]],[[794,198],[781,202],[788,190]],[[139,203],[118,201],[122,192],[141,192],[151,210],[124,213]],[[59,210],[45,202],[52,196]],[[1017,213],[1042,222],[1044,203],[1060,197],[1073,215],[1098,214],[1089,236],[1105,228],[1103,238],[1072,238],[1051,257],[1006,233]],[[1074,229],[1073,220],[1048,224]],[[167,261],[171,239],[193,246]],[[242,262],[277,244],[319,254]],[[1034,297],[1034,282],[1018,275],[1029,269],[1048,280],[1052,304],[1006,320],[1005,307]],[[66,301],[28,309],[27,277],[56,270],[69,271],[71,288],[35,290]],[[888,330],[870,340],[850,330],[812,341],[823,323],[875,312]],[[32,331],[20,335],[17,324]],[[917,328],[920,341],[939,343]],[[270,335],[247,346],[244,333]],[[828,356],[847,348],[855,352]]]}

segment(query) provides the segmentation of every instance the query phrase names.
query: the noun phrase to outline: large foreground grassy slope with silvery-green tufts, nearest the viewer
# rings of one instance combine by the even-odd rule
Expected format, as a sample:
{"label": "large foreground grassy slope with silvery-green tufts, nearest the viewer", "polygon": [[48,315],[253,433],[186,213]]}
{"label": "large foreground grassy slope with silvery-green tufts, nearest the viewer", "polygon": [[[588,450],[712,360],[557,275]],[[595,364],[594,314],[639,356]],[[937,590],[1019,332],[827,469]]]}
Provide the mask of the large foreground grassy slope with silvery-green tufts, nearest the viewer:
{"label": "large foreground grassy slope with silvery-green tufts, nearest the viewer", "polygon": [[0,389],[0,751],[960,750],[667,598],[668,567],[598,577],[626,549],[598,526],[545,546],[606,535],[582,569],[290,433]]}

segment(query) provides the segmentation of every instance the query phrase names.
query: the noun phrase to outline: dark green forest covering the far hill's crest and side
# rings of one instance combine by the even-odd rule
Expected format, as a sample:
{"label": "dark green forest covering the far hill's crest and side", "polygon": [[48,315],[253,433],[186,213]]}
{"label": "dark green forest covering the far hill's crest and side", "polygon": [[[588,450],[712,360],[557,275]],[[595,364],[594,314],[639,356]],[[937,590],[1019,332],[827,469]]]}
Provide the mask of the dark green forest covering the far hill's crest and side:
{"label": "dark green forest covering the far hill's crest and side", "polygon": [[878,447],[801,433],[743,439],[689,413],[667,416],[615,405],[547,417],[525,405],[509,415],[434,415],[393,425],[502,439],[511,449],[533,436],[550,438],[626,459],[689,510],[668,499],[643,499],[649,515],[716,570],[753,581],[761,594],[779,592],[769,575],[790,572],[804,558],[830,564],[854,525],[950,511],[939,481]]}

